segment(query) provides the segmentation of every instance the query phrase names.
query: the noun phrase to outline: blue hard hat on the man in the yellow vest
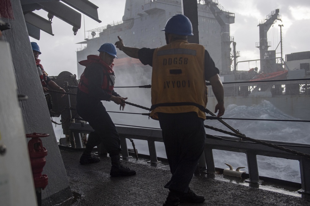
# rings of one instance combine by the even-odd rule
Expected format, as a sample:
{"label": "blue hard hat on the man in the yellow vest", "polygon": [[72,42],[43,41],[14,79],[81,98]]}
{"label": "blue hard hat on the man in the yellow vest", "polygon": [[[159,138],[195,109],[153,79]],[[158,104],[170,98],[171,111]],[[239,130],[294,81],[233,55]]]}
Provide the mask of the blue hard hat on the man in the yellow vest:
{"label": "blue hard hat on the man in the yellow vest", "polygon": [[178,34],[183,36],[193,36],[193,26],[191,21],[183,14],[176,14],[168,19],[162,31],[166,33]]}

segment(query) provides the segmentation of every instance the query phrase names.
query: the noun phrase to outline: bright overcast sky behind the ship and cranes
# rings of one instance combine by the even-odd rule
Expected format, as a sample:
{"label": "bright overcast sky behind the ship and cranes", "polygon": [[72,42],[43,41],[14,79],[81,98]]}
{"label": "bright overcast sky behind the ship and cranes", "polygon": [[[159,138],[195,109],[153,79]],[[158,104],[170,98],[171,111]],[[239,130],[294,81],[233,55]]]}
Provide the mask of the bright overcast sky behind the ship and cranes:
{"label": "bright overcast sky behind the ship and cranes", "polygon": [[[141,0],[143,1],[143,0]],[[122,20],[125,8],[125,0],[102,1],[90,0],[97,5],[99,19],[101,23],[92,20],[85,15],[85,30]],[[259,20],[264,19],[271,11],[280,9],[282,22],[277,21],[268,32],[268,42],[272,42],[269,50],[276,49],[280,42],[280,27],[283,24],[283,58],[285,54],[294,52],[310,51],[310,1],[309,0],[219,0],[226,11],[235,14],[235,23],[230,25],[231,36],[237,43],[236,49],[240,51],[241,57],[238,61],[259,59],[259,49],[255,43],[259,42]],[[35,13],[47,18],[46,11],[36,11]],[[73,35],[72,26],[54,17],[52,29],[55,36],[51,36],[41,31],[38,42],[42,54],[39,56],[44,69],[50,76],[57,76],[62,71],[69,71],[77,74],[76,51],[80,47],[78,42],[84,41],[84,20],[82,15],[81,29],[76,36]],[[86,32],[86,35],[88,33]],[[87,36],[86,36],[87,38]],[[115,38],[115,42],[117,37]],[[103,42],[104,43],[104,42]],[[114,43],[114,42],[111,42]],[[125,42],[126,43],[126,42]],[[232,46],[232,45],[231,45]],[[280,46],[277,49],[280,52]],[[238,64],[238,69],[244,70],[255,67],[255,62]]]}

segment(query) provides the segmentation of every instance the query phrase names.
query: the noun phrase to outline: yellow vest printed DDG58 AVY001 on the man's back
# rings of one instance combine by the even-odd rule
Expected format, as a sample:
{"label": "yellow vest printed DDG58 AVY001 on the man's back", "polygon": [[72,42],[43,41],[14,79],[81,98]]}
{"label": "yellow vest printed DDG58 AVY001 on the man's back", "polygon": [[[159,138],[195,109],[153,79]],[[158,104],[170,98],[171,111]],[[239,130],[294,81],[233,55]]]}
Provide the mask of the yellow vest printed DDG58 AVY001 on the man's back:
{"label": "yellow vest printed DDG58 AVY001 on the man's back", "polygon": [[151,118],[158,120],[157,112],[197,112],[206,119],[205,112],[198,108],[207,104],[204,57],[204,46],[186,40],[155,49]]}

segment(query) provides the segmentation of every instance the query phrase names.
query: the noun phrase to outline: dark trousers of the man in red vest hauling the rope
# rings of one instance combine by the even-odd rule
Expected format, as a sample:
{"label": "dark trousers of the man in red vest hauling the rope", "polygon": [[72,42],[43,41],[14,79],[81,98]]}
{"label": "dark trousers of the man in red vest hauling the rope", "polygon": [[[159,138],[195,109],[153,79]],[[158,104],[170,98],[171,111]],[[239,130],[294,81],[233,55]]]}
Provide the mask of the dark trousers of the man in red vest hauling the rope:
{"label": "dark trousers of the man in red vest hauling the rope", "polygon": [[92,149],[103,142],[108,153],[121,151],[116,127],[101,102],[98,105],[77,104],[77,112],[95,130],[88,137],[86,149]]}

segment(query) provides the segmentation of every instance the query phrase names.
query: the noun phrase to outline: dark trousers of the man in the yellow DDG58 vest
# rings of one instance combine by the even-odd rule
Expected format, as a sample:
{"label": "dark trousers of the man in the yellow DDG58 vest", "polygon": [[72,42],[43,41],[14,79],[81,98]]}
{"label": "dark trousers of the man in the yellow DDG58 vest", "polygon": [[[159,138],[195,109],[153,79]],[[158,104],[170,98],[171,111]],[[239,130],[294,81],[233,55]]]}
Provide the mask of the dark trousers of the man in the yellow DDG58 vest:
{"label": "dark trousers of the man in the yellow DDG58 vest", "polygon": [[165,187],[187,193],[205,146],[204,120],[196,112],[158,113],[158,118],[172,173]]}

